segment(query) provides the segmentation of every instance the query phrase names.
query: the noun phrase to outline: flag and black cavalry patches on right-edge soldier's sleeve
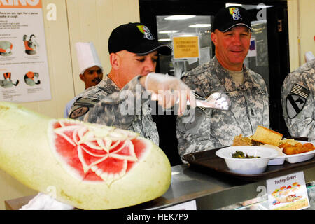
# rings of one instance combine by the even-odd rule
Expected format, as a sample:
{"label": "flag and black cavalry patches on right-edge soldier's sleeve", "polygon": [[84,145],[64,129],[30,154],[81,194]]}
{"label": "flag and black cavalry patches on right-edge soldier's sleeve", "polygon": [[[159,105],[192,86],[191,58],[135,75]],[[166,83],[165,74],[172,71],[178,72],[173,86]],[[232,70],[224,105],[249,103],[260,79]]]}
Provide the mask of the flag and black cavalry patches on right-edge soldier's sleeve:
{"label": "flag and black cavalry patches on right-edge soldier's sleeve", "polygon": [[286,112],[289,118],[295,118],[302,111],[308,96],[309,90],[296,83],[293,85],[290,94],[286,97]]}

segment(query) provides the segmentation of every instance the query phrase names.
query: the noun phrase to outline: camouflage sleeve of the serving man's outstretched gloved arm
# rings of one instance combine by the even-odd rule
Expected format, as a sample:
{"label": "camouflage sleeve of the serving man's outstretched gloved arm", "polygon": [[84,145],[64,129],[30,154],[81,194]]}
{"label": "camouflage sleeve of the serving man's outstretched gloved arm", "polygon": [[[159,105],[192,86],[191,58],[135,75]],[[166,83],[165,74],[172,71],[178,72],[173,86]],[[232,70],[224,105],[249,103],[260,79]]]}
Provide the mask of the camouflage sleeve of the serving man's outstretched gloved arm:
{"label": "camouflage sleeve of the serving man's outstretched gloved arm", "polygon": [[143,96],[144,87],[139,83],[137,76],[119,92],[113,92],[102,97],[96,104],[87,106],[88,112],[77,119],[127,129],[134,117],[141,113],[141,105],[148,100]]}

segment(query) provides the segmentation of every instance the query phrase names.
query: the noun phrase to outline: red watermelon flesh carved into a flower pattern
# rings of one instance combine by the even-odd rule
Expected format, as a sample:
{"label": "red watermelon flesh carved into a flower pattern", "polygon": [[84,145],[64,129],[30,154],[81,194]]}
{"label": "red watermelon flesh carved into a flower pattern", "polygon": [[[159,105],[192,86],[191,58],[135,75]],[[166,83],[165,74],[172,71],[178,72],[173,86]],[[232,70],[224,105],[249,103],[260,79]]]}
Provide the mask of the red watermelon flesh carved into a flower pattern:
{"label": "red watermelon flesh carved into a flower pattern", "polygon": [[108,185],[130,172],[148,151],[137,134],[76,120],[55,120],[49,136],[54,154],[69,174]]}

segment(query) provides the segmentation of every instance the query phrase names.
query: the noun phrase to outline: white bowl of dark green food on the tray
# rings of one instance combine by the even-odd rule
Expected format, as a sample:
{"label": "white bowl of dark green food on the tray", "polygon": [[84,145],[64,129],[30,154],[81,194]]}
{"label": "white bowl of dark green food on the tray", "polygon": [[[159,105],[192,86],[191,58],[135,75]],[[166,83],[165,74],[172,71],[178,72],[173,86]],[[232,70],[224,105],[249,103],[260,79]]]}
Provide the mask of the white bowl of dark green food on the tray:
{"label": "white bowl of dark green food on the tray", "polygon": [[[233,158],[241,155],[247,158]],[[276,158],[279,152],[274,148],[260,146],[230,146],[216,151],[216,155],[225,160],[231,172],[237,174],[260,174],[265,171],[270,159]]]}

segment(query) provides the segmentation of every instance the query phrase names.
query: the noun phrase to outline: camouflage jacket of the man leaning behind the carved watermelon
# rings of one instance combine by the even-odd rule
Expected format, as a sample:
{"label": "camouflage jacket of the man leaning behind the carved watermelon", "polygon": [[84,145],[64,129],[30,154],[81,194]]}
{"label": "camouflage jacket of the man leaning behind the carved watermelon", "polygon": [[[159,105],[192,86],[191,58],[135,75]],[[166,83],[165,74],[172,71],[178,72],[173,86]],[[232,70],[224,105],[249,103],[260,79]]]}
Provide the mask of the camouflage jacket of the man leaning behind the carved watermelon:
{"label": "camouflage jacket of the man leaning behind the carved watermelon", "polygon": [[[99,123],[131,130],[151,139],[158,145],[158,131],[151,118],[150,101],[141,99],[141,95],[145,91],[143,87],[136,94],[137,86],[141,86],[138,76],[125,85],[121,91],[109,76],[105,76],[99,85],[90,87],[89,90],[78,96],[78,100],[71,107],[69,117],[89,123]],[[130,90],[134,96],[139,97],[136,102],[140,102],[141,111],[134,111],[130,114],[120,113],[120,106],[128,104],[122,97],[124,90]],[[133,105],[133,102],[130,102],[129,105]],[[134,106],[134,109],[136,110],[137,106]],[[80,114],[82,115],[78,116]]]}

